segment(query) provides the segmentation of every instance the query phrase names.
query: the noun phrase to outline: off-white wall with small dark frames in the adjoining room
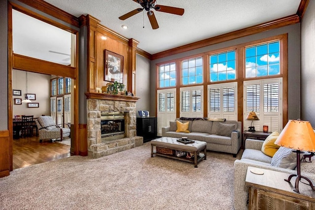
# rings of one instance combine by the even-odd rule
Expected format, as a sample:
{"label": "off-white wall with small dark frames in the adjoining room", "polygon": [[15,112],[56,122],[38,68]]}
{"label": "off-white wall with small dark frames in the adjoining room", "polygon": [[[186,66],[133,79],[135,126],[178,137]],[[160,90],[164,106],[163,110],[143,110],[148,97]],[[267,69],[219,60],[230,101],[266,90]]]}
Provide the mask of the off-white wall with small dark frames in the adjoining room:
{"label": "off-white wall with small dark frames in the adjoining room", "polygon": [[26,71],[13,69],[12,75],[13,90],[21,90],[22,95],[13,95],[13,116],[33,115],[37,118],[41,115],[50,115],[50,75],[28,72],[28,93],[36,94],[34,103],[39,103],[38,108],[28,108],[27,103],[21,105],[14,104],[14,98],[25,98],[26,93]]}

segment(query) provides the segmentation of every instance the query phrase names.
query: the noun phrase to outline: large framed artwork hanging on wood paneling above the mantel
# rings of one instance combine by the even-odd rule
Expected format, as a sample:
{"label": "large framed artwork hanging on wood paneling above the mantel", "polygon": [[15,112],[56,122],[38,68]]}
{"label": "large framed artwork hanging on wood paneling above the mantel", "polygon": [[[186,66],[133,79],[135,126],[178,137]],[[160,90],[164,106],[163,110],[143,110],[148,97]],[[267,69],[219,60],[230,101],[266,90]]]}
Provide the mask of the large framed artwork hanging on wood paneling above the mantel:
{"label": "large framed artwork hanging on wood paneling above the mantel", "polygon": [[124,56],[105,50],[104,80],[123,83]]}

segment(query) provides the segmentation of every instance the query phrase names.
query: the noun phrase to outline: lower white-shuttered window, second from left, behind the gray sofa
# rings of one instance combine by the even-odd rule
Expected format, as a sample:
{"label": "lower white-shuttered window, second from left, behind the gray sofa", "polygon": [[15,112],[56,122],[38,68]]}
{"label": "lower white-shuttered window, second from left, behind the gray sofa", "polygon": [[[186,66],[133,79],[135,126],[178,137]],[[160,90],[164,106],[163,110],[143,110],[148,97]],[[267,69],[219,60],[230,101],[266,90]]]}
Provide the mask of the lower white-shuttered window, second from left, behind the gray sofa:
{"label": "lower white-shuttered window, second from left, behind the gray sofa", "polygon": [[180,89],[180,116],[188,118],[203,117],[203,87],[195,86]]}

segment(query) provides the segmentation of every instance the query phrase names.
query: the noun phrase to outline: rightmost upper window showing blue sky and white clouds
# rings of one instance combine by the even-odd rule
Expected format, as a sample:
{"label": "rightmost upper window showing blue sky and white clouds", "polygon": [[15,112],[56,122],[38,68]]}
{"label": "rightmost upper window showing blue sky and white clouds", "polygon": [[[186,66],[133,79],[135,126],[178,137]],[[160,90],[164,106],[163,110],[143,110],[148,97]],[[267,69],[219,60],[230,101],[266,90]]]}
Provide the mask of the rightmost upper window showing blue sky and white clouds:
{"label": "rightmost upper window showing blue sky and white clouds", "polygon": [[246,47],[246,78],[280,74],[280,41]]}

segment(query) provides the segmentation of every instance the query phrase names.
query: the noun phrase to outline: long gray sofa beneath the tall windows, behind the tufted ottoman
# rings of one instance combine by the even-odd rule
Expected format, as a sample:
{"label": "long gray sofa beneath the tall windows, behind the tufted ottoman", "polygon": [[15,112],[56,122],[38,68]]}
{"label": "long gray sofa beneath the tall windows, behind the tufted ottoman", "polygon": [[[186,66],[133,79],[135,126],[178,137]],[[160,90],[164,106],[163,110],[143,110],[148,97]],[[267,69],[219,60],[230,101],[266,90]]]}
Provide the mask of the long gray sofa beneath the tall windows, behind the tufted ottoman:
{"label": "long gray sofa beneath the tall windows, behind the tufted ottoman", "polygon": [[[176,120],[189,121],[189,131],[176,132]],[[170,121],[170,126],[162,127],[162,137],[182,138],[203,141],[207,150],[232,153],[236,157],[241,147],[241,122],[239,121],[210,121],[210,120],[180,120]]]}

